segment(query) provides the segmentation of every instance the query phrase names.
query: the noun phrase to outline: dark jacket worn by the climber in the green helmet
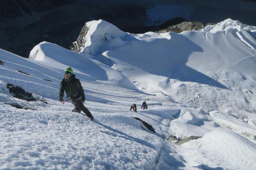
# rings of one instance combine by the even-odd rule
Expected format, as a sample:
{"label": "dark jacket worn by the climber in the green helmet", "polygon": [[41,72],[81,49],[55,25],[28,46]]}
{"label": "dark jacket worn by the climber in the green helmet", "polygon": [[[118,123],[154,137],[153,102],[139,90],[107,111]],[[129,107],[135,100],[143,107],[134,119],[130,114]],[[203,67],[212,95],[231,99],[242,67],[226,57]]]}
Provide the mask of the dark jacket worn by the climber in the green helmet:
{"label": "dark jacket worn by the climber in the green helmet", "polygon": [[82,97],[82,100],[85,100],[84,89],[75,74],[73,74],[69,80],[63,78],[60,82],[59,98],[63,97],[64,92],[66,92],[67,97],[70,97],[71,99],[76,100],[77,98]]}

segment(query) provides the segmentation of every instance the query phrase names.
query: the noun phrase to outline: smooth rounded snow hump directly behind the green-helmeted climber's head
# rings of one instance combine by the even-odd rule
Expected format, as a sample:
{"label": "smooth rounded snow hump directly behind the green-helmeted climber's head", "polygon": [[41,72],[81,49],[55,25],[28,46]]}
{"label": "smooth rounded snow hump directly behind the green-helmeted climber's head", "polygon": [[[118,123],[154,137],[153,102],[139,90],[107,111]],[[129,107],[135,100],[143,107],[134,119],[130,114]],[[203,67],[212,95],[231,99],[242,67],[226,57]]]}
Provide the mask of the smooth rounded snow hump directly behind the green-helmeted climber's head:
{"label": "smooth rounded snow hump directly behind the green-helmeted climber's head", "polygon": [[81,80],[111,80],[122,87],[136,89],[127,77],[98,61],[90,59],[89,55],[84,57],[49,42],[41,42],[35,46],[30,52],[30,59],[62,73],[61,78],[63,78],[63,69],[71,66],[76,76]]}

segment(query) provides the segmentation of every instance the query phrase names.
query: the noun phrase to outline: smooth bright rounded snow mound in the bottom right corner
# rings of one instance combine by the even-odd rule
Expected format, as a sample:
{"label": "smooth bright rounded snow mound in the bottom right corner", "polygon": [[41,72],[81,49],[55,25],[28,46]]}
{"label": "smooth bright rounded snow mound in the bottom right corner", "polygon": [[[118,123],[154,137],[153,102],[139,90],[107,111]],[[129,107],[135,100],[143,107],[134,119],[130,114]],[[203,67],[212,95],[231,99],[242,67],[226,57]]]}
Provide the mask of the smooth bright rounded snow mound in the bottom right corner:
{"label": "smooth bright rounded snow mound in the bottom right corner", "polygon": [[[200,169],[253,170],[256,163],[256,144],[232,131],[217,128],[201,139],[184,143],[186,166]],[[251,163],[245,163],[251,162]]]}

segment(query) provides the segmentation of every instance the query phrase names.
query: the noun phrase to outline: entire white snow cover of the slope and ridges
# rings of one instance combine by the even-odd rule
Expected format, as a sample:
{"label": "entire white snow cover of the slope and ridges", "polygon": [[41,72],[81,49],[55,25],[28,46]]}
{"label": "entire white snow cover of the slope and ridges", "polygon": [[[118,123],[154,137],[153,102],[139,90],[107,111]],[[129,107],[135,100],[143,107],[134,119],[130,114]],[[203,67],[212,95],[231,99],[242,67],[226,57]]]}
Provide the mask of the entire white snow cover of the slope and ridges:
{"label": "entire white snow cover of the slope and ridges", "polygon": [[[49,42],[29,59],[0,50],[0,170],[256,169],[256,27],[227,19],[134,35],[104,20],[87,26],[80,53]],[[57,100],[68,66],[93,122]],[[6,83],[37,101],[12,97]],[[201,138],[178,145],[170,135]]]}

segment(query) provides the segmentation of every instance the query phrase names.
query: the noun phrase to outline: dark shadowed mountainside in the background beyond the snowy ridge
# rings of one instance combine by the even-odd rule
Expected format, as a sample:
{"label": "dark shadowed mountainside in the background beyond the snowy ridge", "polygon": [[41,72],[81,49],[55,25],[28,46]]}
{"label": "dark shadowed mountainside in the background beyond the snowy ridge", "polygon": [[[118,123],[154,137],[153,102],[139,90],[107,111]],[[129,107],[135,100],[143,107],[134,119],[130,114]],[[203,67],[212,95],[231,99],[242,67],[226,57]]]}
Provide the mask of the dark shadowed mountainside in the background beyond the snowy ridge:
{"label": "dark shadowed mountainside in the background beyond the snowy ridge", "polygon": [[256,25],[250,17],[255,9],[255,0],[2,0],[0,48],[25,58],[43,41],[68,48],[84,23],[96,19],[131,33],[159,31],[185,19],[206,24],[232,18]]}

